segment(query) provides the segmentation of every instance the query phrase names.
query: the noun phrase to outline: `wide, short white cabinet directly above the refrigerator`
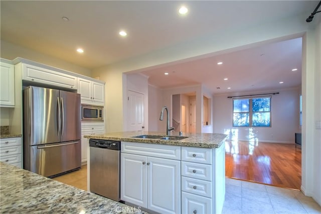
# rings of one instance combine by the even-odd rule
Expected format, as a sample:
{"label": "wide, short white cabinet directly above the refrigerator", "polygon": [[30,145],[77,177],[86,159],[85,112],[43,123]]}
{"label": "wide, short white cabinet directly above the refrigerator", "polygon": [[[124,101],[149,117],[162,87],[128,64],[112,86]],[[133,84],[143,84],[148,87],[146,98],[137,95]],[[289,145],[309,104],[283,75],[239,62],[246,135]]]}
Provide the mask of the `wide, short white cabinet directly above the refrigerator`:
{"label": "wide, short white cabinet directly above the refrigerator", "polygon": [[34,65],[22,64],[22,79],[40,84],[77,89],[77,77]]}

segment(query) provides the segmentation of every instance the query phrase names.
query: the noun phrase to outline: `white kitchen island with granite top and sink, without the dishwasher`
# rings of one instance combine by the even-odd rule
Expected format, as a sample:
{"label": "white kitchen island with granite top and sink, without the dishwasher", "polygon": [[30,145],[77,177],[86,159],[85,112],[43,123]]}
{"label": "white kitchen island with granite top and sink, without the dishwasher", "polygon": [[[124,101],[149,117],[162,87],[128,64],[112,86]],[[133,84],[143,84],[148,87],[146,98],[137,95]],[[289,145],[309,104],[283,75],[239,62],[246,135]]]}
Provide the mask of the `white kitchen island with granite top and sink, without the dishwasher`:
{"label": "white kitchen island with granite top and sink, without the dishwasher", "polygon": [[[222,212],[227,135],[138,131],[84,137],[121,142],[120,198],[127,204],[159,213]],[[90,158],[87,169],[90,190]]]}

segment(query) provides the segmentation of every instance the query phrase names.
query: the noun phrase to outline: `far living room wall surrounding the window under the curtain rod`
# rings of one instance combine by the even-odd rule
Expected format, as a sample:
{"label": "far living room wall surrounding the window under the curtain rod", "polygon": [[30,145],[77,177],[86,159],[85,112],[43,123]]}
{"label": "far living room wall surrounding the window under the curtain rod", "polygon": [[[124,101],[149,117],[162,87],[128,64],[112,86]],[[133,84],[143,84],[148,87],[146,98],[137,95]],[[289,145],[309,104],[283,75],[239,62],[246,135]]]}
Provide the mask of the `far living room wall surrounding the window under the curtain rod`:
{"label": "far living room wall surrounding the window under the curtain rod", "polygon": [[299,131],[299,88],[250,91],[241,95],[270,92],[280,92],[271,97],[271,127],[253,128],[233,127],[233,99],[227,96],[234,94],[215,95],[214,132],[228,134],[229,139],[233,132],[237,132],[240,141],[249,141],[254,138],[258,142],[294,143],[294,133]]}

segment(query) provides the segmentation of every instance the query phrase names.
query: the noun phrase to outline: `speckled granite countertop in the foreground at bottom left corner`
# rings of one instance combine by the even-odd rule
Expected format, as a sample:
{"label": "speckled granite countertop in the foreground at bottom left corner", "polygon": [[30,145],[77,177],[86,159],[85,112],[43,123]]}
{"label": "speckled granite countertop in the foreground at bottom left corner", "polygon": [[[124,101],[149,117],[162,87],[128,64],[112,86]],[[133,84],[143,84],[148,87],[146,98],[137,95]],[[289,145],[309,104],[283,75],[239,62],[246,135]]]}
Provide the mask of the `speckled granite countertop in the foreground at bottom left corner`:
{"label": "speckled granite countertop in the foreground at bottom left corner", "polygon": [[144,213],[0,162],[0,213]]}

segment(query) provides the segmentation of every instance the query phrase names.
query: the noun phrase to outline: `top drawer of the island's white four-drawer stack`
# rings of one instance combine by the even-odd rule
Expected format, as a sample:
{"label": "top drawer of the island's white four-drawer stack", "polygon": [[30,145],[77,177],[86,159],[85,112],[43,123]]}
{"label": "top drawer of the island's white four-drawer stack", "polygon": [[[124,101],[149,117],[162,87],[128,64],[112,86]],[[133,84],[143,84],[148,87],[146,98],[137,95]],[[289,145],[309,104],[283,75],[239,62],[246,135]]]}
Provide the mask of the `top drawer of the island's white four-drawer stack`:
{"label": "top drawer of the island's white four-drawer stack", "polygon": [[182,147],[182,161],[212,164],[212,149]]}

